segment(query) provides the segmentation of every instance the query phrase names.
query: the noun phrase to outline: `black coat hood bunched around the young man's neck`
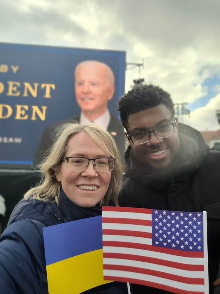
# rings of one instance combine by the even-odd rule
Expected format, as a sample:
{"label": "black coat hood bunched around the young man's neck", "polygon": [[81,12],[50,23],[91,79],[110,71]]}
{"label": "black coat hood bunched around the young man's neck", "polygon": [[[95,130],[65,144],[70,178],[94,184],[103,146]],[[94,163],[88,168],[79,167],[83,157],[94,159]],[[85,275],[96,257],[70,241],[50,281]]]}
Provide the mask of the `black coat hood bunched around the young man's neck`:
{"label": "black coat hood bunched around the young man's neck", "polygon": [[210,148],[199,131],[183,123],[178,123],[178,125],[179,150],[166,171],[158,171],[158,173],[153,174],[149,171],[144,172],[144,166],[137,168],[133,151],[129,145],[125,153],[126,176],[143,186],[160,188],[172,180],[184,181],[190,174],[194,173]]}

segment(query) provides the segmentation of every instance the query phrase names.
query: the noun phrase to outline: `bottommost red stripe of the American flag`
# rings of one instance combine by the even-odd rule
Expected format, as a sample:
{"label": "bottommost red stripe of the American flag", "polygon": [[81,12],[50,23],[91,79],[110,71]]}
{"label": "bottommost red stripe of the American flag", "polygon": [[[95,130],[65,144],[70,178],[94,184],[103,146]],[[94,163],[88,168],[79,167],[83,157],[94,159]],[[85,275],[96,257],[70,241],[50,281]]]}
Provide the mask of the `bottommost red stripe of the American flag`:
{"label": "bottommost red stripe of the American flag", "polygon": [[104,280],[112,280],[112,281],[119,281],[119,282],[125,282],[125,283],[133,283],[133,284],[139,284],[139,285],[144,285],[148,287],[154,287],[158,288],[161,290],[165,290],[168,292],[176,293],[176,294],[204,294],[204,292],[201,291],[187,291],[187,290],[182,290],[182,289],[177,289],[174,287],[158,284],[158,283],[153,283],[153,282],[147,282],[143,280],[138,280],[138,279],[129,279],[129,278],[118,278],[114,276],[104,276]]}

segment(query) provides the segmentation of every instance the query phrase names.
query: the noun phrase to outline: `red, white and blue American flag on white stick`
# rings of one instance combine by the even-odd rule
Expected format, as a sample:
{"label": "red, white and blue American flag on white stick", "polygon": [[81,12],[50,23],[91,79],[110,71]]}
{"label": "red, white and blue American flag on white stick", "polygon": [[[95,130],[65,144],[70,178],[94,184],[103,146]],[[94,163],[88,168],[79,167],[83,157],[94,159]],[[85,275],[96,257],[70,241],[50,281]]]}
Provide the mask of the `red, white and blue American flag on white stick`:
{"label": "red, white and blue American flag on white stick", "polygon": [[102,208],[104,280],[208,294],[206,212]]}

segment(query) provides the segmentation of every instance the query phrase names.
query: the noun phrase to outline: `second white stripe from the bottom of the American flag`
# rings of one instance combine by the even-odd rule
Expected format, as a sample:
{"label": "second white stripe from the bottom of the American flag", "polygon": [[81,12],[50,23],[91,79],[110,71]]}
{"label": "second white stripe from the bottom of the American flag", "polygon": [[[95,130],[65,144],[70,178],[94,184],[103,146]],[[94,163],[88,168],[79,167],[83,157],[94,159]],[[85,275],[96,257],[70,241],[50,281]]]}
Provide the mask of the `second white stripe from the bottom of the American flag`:
{"label": "second white stripe from the bottom of the American flag", "polygon": [[125,266],[134,266],[137,268],[145,268],[147,270],[158,270],[162,273],[168,273],[172,275],[179,275],[185,278],[204,278],[203,271],[194,271],[194,270],[181,270],[179,268],[171,268],[165,265],[159,265],[154,263],[148,263],[137,260],[128,260],[121,258],[103,258],[103,263],[105,265],[125,265]]}

